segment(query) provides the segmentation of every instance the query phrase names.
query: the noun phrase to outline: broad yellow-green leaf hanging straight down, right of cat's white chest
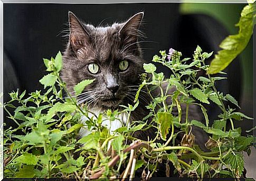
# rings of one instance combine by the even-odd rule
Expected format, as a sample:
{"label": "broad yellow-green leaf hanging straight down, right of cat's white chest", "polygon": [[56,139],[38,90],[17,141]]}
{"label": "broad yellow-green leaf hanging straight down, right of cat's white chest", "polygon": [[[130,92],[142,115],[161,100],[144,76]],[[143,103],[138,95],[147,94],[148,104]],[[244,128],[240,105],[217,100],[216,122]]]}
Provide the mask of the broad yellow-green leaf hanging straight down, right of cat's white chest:
{"label": "broad yellow-green leaf hanging straight down, right of cat's white chest", "polygon": [[163,140],[166,140],[166,136],[169,133],[169,128],[173,124],[173,116],[169,113],[157,113],[158,123],[160,126],[160,136]]}

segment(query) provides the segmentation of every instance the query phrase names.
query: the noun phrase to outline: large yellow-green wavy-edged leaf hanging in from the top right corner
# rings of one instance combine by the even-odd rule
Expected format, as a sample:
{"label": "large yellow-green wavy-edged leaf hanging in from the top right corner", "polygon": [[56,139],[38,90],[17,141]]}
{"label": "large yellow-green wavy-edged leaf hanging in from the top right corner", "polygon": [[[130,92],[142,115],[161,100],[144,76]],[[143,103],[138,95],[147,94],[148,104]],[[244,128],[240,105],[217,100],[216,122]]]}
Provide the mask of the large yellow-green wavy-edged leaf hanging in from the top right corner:
{"label": "large yellow-green wavy-edged leaf hanging in from the top right corner", "polygon": [[233,59],[238,56],[246,47],[253,34],[253,19],[255,19],[255,9],[253,4],[245,6],[241,12],[241,17],[237,26],[239,33],[226,37],[220,47],[221,51],[215,55],[211,62],[209,74],[216,74],[225,69]]}

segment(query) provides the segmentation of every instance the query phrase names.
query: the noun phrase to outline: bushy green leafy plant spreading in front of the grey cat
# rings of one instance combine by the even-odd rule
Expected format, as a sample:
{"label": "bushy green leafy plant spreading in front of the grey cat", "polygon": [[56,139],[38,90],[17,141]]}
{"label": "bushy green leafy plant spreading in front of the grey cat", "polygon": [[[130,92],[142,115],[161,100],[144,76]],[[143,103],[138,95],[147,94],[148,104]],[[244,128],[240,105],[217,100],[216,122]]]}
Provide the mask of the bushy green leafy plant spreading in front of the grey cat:
{"label": "bushy green leafy plant spreading in front of the grey cat", "polygon": [[[145,74],[134,99],[134,105],[122,105],[122,110],[106,110],[105,113],[88,117],[87,105],[78,105],[77,99],[71,96],[60,79],[62,56],[44,59],[46,71],[40,83],[44,85],[45,93],[36,91],[27,97],[25,92],[10,93],[11,100],[4,104],[9,119],[16,128],[4,130],[4,176],[5,177],[61,177],[61,178],[116,178],[119,176],[134,176],[135,170],[144,168],[142,177],[150,178],[157,172],[157,165],[163,160],[171,162],[175,172],[183,177],[241,177],[243,176],[242,152],[250,155],[253,143],[252,136],[241,136],[241,129],[235,128],[233,120],[251,119],[235,109],[226,107],[224,102],[238,105],[229,94],[224,95],[216,90],[215,82],[225,77],[211,77],[208,74],[209,65],[205,60],[212,53],[203,53],[197,46],[193,58],[181,59],[180,52],[170,49],[169,53],[160,51],[153,62],[160,63],[170,69],[173,74],[164,78],[163,73],[156,73],[154,64],[144,64]],[[206,73],[207,77],[197,76],[198,71]],[[224,73],[222,73],[224,74]],[[85,86],[93,80],[85,80],[75,86],[79,95]],[[162,88],[176,87],[172,94],[167,94]],[[161,94],[153,97],[147,109],[148,116],[143,120],[132,122],[130,126],[123,125],[115,133],[102,126],[105,119],[115,120],[120,113],[129,115],[139,104],[139,94],[147,90],[159,88]],[[143,89],[143,90],[142,90]],[[68,96],[63,97],[63,93]],[[172,98],[172,104],[166,104],[166,99]],[[217,104],[222,113],[213,125],[209,125],[205,104]],[[16,102],[18,106],[12,104]],[[182,122],[181,104],[186,105],[186,118]],[[205,124],[198,120],[188,119],[189,105],[201,107]],[[15,109],[12,115],[9,109]],[[177,108],[178,115],[172,110]],[[93,113],[92,113],[93,114]],[[87,116],[86,122],[92,133],[77,140],[78,132],[84,125],[80,123],[81,116]],[[149,119],[152,119],[149,122]],[[227,129],[227,122],[231,129]],[[203,152],[194,144],[191,134],[192,125],[201,127],[210,134],[206,146],[210,152]],[[139,140],[132,137],[136,130],[156,128],[154,139]],[[180,131],[175,133],[174,129]],[[179,145],[174,145],[178,134],[184,133],[184,139]],[[163,144],[158,140],[162,139]],[[127,145],[126,141],[131,144]],[[78,146],[82,144],[82,146]],[[111,151],[112,149],[112,151]],[[122,170],[121,168],[126,168]],[[225,167],[225,168],[224,168]],[[166,175],[170,174],[166,164]]]}

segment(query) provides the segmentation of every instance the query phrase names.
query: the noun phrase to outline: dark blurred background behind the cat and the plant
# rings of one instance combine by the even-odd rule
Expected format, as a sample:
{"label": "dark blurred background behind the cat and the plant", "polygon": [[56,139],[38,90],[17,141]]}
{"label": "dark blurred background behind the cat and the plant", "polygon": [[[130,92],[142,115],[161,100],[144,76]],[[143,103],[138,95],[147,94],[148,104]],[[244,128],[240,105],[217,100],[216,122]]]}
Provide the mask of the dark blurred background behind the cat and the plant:
{"label": "dark blurred background behind the cat and the plant", "polygon": [[[4,4],[4,102],[8,92],[19,88],[27,93],[43,89],[39,83],[45,72],[42,58],[63,51],[68,39],[62,36],[68,28],[68,11],[86,23],[105,26],[126,21],[140,11],[145,12],[141,30],[147,35],[142,47],[144,58],[151,61],[159,50],[170,47],[191,57],[197,45],[205,52],[220,50],[219,44],[229,34],[238,33],[240,13],[246,4],[204,3],[136,3],[136,4]],[[210,62],[209,62],[210,63]],[[242,107],[241,112],[252,117],[253,66],[252,39],[243,53],[225,69],[228,79],[217,83],[217,88],[233,95]],[[164,67],[158,70],[169,75]],[[210,105],[210,120],[219,109]],[[6,120],[5,120],[6,122]],[[7,123],[7,126],[11,126]],[[14,125],[12,125],[14,126]],[[252,121],[236,122],[245,130]],[[255,158],[254,149],[254,158]],[[248,159],[247,163],[255,159]],[[250,166],[249,177],[254,177]],[[255,169],[254,169],[255,170]]]}

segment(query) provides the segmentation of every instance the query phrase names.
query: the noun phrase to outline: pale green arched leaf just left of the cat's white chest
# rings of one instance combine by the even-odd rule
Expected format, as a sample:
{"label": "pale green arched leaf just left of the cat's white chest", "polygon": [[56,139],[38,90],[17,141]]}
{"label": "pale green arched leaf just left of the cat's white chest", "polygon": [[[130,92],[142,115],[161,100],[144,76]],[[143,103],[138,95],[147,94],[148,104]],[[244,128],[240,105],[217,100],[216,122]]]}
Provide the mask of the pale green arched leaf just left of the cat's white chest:
{"label": "pale green arched leaf just left of the cat's white chest", "polygon": [[56,103],[48,111],[45,116],[46,122],[48,122],[57,112],[73,112],[76,109],[75,105]]}

